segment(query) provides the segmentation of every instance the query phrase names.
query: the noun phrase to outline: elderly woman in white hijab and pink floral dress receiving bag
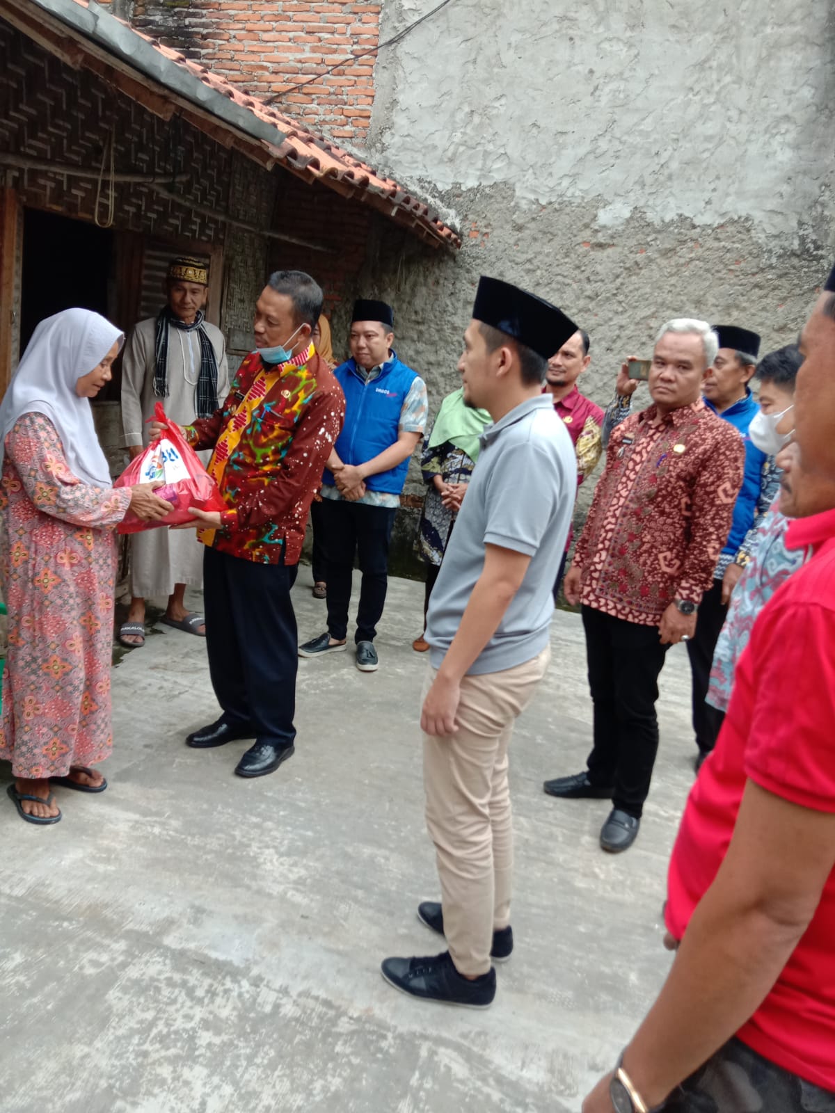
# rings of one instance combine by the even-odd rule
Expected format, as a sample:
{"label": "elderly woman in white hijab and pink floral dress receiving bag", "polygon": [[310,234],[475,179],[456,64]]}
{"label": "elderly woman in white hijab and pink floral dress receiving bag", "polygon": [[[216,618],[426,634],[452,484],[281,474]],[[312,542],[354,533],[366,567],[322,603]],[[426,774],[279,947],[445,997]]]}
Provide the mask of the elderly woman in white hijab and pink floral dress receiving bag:
{"label": "elderly woman in white hijab and pink floral dress receiving bag", "polygon": [[[114,491],[89,400],[110,380],[122,334],[89,309],[42,321],[0,405],[0,580],[9,610],[0,758],[27,823],[56,824],[51,786],[107,787],[90,768],[111,749],[110,659],[117,552],[128,511],[169,503],[151,484]],[[158,485],[158,484],[156,484]]]}

